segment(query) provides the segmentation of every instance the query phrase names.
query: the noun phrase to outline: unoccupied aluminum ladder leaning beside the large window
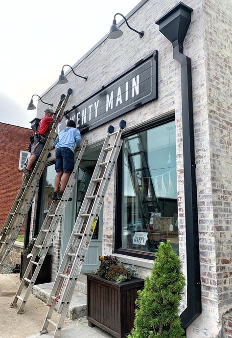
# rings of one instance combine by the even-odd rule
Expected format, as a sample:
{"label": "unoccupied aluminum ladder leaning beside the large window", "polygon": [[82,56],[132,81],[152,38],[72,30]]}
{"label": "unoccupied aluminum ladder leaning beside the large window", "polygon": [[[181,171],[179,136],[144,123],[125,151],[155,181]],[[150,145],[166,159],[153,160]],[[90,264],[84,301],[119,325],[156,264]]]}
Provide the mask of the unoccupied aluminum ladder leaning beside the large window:
{"label": "unoccupied aluminum ladder leaning beside the large window", "polygon": [[[53,337],[60,336],[72,294],[80,275],[106,190],[109,185],[109,180],[111,179],[113,170],[116,166],[116,160],[123,142],[121,134],[125,126],[126,122],[121,120],[117,132],[114,132],[113,126],[109,126],[108,128],[108,133],[93,171],[92,179],[73,227],[70,241],[58,270],[51,293],[47,300],[49,310],[47,312],[42,331],[40,332],[41,335],[48,333],[47,327],[50,323],[55,327]],[[115,140],[112,140],[113,136],[115,136]],[[51,316],[57,302],[57,312],[61,315],[58,323],[55,323],[51,319]]]}

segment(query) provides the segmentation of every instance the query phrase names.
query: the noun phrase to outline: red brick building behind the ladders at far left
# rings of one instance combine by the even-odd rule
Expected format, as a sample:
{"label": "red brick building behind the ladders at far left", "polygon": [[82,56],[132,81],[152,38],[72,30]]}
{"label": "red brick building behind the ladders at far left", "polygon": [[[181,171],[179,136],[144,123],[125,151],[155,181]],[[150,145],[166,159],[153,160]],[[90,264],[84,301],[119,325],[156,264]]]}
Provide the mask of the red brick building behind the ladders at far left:
{"label": "red brick building behind the ladders at far left", "polygon": [[[21,187],[21,168],[32,134],[31,129],[0,122],[0,229]],[[24,230],[23,225],[20,234]]]}

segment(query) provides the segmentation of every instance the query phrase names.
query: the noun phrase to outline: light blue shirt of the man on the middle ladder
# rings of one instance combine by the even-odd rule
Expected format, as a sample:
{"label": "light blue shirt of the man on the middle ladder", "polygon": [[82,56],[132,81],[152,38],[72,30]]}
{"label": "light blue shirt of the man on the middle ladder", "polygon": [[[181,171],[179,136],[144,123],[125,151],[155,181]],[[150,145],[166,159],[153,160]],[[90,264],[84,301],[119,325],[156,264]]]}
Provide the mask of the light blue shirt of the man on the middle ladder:
{"label": "light blue shirt of the man on the middle ladder", "polygon": [[75,143],[77,147],[81,144],[81,134],[79,129],[73,127],[67,127],[55,139],[53,146],[55,148],[70,148],[74,153]]}

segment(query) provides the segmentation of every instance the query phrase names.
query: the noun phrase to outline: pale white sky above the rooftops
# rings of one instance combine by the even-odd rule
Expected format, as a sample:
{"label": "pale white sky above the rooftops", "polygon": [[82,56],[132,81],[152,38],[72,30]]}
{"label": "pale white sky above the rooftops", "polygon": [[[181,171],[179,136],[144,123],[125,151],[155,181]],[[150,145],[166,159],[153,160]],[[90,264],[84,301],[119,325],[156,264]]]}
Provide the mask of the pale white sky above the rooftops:
{"label": "pale white sky above the rooftops", "polygon": [[[33,94],[57,81],[139,0],[7,0],[0,6],[0,122],[30,128]],[[121,21],[117,16],[117,23]],[[139,27],[134,27],[140,29]],[[68,68],[67,68],[68,69]],[[65,69],[65,71],[67,70]],[[37,97],[33,103],[37,104]]]}

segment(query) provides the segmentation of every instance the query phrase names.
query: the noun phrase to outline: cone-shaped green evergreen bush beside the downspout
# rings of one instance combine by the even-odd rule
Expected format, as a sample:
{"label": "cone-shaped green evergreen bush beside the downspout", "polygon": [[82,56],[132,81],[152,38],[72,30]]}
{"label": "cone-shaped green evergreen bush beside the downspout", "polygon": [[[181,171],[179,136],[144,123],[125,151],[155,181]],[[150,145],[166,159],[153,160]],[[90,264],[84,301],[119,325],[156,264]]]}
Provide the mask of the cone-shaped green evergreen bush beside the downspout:
{"label": "cone-shaped green evergreen bush beside the downspout", "polygon": [[181,261],[170,241],[161,243],[150,277],[138,292],[134,328],[128,338],[182,338],[179,305],[185,286]]}

